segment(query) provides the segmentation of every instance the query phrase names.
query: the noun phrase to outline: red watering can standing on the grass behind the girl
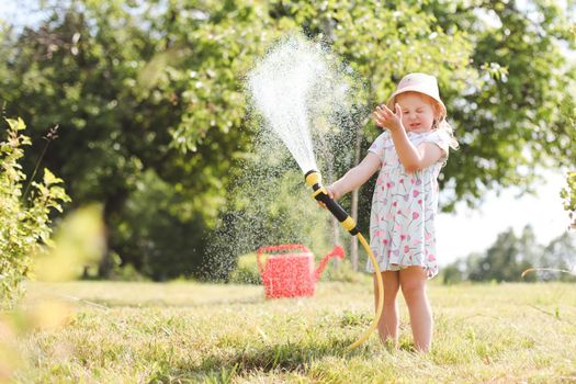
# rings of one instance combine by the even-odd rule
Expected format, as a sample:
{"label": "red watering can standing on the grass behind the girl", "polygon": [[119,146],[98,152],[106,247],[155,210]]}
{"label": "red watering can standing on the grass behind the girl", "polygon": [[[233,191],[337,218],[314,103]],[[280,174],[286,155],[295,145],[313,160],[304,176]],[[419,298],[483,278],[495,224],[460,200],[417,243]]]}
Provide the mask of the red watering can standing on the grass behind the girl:
{"label": "red watering can standing on the grass behind the girl", "polygon": [[[266,264],[262,262],[262,255],[268,255]],[[332,257],[343,259],[342,247],[335,247],[314,270],[314,255],[303,245],[285,244],[258,248],[258,270],[264,284],[266,297],[313,296],[320,273]]]}

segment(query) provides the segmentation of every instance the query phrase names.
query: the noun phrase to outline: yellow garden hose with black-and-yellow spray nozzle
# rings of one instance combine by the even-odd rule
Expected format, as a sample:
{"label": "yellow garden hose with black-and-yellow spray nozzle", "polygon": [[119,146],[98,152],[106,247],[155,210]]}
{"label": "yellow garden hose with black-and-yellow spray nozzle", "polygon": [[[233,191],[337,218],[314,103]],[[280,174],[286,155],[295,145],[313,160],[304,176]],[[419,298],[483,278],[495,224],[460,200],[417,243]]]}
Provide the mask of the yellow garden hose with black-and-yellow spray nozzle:
{"label": "yellow garden hose with black-and-yellow spray nozzle", "polygon": [[319,202],[323,202],[326,208],[330,211],[330,213],[340,222],[340,225],[350,233],[350,235],[355,236],[364,249],[368,252],[368,256],[370,258],[370,261],[372,262],[372,266],[374,267],[374,273],[376,274],[376,283],[377,283],[377,290],[379,290],[379,302],[376,305],[376,314],[374,316],[374,320],[372,321],[372,325],[370,328],[360,337],[357,341],[351,343],[348,349],[352,350],[360,346],[362,342],[364,342],[370,335],[376,329],[380,317],[382,316],[382,308],[384,307],[384,283],[382,282],[382,274],[379,273],[380,267],[376,261],[376,258],[374,257],[374,253],[372,252],[372,249],[370,249],[370,246],[358,229],[358,226],[354,222],[354,219],[338,204],[334,199],[328,196],[328,192],[326,191],[326,188],[321,184],[321,176],[316,170],[310,170],[306,172],[304,176],[306,180],[306,185],[312,187],[314,190],[314,193],[312,196],[316,199]]}

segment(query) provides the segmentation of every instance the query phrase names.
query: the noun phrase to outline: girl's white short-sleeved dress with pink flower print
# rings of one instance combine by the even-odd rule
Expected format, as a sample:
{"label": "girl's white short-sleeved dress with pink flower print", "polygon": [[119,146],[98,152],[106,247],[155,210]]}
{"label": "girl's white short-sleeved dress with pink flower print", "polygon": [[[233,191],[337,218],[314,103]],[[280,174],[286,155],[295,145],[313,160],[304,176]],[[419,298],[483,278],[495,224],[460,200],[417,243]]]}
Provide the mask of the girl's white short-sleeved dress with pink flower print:
{"label": "girl's white short-sleeved dress with pink flower print", "polygon": [[[443,131],[409,132],[408,138],[416,147],[434,143],[448,156],[450,136]],[[438,274],[434,228],[438,174],[447,157],[426,169],[407,173],[388,132],[380,135],[369,151],[382,161],[370,215],[370,247],[380,270],[420,266],[429,279],[433,278]],[[366,270],[374,272],[370,260]]]}

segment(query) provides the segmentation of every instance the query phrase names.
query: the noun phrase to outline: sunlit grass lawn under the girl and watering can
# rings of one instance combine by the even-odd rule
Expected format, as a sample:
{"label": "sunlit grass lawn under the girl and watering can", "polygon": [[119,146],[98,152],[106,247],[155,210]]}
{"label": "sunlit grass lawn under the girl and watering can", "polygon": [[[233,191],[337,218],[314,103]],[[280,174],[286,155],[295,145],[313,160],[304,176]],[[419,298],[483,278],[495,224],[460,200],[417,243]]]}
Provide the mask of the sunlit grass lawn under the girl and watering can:
{"label": "sunlit grass lawn under the girl and watering can", "polygon": [[313,298],[266,301],[249,285],[31,283],[20,315],[27,330],[10,345],[21,355],[11,380],[576,383],[573,284],[432,283],[430,353],[413,352],[404,306],[399,349],[373,335],[347,352],[372,319],[371,286],[324,282]]}

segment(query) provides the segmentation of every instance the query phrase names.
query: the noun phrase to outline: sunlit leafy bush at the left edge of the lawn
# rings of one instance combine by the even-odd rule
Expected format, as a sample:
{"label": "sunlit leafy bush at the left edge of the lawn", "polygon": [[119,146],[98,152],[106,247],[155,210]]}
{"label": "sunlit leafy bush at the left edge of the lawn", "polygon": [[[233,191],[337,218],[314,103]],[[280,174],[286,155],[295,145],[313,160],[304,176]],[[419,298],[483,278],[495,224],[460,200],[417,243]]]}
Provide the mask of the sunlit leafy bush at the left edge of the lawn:
{"label": "sunlit leafy bush at the left edge of the lawn", "polygon": [[23,146],[30,138],[22,135],[24,122],[7,120],[8,136],[0,143],[0,306],[18,297],[21,282],[30,274],[31,255],[41,245],[50,245],[50,213],[61,212],[70,201],[60,187],[63,180],[44,169],[42,182],[30,180],[32,193],[23,196],[26,176],[21,161]]}

